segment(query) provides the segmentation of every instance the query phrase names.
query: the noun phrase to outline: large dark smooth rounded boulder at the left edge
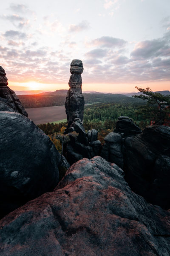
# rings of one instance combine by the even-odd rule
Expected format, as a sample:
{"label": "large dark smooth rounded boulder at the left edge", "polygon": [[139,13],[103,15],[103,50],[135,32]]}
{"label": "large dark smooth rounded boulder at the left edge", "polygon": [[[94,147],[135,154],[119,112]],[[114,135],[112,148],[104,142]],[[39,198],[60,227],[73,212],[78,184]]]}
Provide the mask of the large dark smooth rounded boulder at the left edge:
{"label": "large dark smooth rounded boulder at the left edge", "polygon": [[0,217],[54,189],[59,160],[54,144],[30,119],[0,111]]}

